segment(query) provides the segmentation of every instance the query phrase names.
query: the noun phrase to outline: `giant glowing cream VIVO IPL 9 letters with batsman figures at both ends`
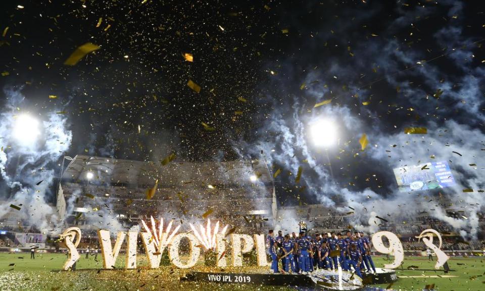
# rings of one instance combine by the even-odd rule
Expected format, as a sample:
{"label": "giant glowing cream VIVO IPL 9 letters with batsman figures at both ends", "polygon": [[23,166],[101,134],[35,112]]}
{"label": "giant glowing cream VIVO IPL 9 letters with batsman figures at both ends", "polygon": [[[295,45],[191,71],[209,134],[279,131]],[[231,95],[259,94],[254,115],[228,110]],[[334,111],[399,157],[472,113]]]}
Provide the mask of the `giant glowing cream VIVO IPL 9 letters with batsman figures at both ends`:
{"label": "giant glowing cream VIVO IPL 9 letters with batsman figures at both ends", "polygon": [[[156,222],[153,218],[151,221],[151,229],[143,222],[143,227],[146,232],[119,231],[116,236],[114,247],[112,245],[110,231],[104,229],[98,230],[99,243],[103,255],[103,268],[114,268],[121,246],[126,240],[125,268],[135,269],[137,255],[136,240],[138,234],[141,235],[143,246],[152,269],[156,269],[160,266],[162,254],[165,250],[168,252],[170,261],[174,266],[183,269],[191,268],[199,261],[202,248],[206,250],[215,250],[217,253],[216,264],[218,267],[225,267],[227,265],[227,260],[224,256],[226,253],[225,231],[227,227],[218,231],[219,223],[216,223],[215,227],[211,228],[210,221],[208,221],[207,227],[199,226],[200,231],[190,225],[193,233],[177,233],[180,226],[175,227],[172,230],[173,221],[168,224],[165,230],[163,229],[162,219],[159,222],[159,227],[156,227]],[[433,244],[433,235],[438,236],[440,241],[439,247]],[[384,246],[382,241],[384,236],[389,240],[389,247]],[[441,235],[433,229],[426,229],[417,237],[419,239],[422,238],[424,244],[432,249],[437,255],[438,262],[435,265],[435,268],[438,269],[443,266],[448,260],[448,256],[440,250],[442,244]],[[182,260],[179,254],[179,247],[184,238],[189,242],[190,254],[188,259]],[[64,264],[64,270],[69,270],[80,257],[77,251],[77,246],[81,241],[81,230],[77,227],[70,227],[61,234],[61,239],[64,246],[69,250],[69,257]],[[254,234],[251,236],[248,234],[232,233],[230,234],[230,240],[232,249],[232,266],[242,266],[243,254],[251,252],[254,248],[256,248],[258,266],[269,266],[266,257],[264,234]],[[379,231],[372,236],[372,244],[379,253],[394,254],[394,262],[385,265],[385,268],[394,269],[402,264],[404,260],[403,246],[394,233],[389,231]]]}

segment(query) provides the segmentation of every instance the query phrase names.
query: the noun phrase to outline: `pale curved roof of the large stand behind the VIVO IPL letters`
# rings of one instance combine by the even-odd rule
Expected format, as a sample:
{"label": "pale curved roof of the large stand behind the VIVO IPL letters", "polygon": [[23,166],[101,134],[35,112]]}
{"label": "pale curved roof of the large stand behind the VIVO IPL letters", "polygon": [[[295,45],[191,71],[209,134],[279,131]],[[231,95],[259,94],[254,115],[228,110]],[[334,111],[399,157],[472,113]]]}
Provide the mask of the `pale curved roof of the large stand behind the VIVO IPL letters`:
{"label": "pale curved roof of the large stand behind the VIVO IPL letters", "polygon": [[[88,179],[88,173],[92,178]],[[257,176],[259,182],[270,183],[272,174],[263,160],[229,162],[158,162],[118,160],[85,155],[75,156],[62,174],[64,181],[90,181],[125,185],[202,183],[231,184],[248,182]]]}

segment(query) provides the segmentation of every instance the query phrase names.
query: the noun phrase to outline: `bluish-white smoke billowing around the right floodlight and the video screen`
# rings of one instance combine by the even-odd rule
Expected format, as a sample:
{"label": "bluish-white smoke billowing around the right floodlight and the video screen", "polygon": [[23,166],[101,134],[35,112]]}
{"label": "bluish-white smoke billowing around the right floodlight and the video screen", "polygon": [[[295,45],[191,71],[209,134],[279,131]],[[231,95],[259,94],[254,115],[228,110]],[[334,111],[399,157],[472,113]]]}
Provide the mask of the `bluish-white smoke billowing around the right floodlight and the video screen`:
{"label": "bluish-white smoke billowing around the right floodlight and the video screen", "polygon": [[[403,11],[400,4],[396,4],[396,10],[401,16],[389,26],[387,38],[381,36],[380,40],[352,45],[355,56],[361,60],[372,61],[339,62],[338,59],[324,58],[318,60],[318,67],[323,69],[310,69],[304,73],[304,91],[300,90],[301,93],[295,95],[289,93],[279,99],[277,96],[268,96],[266,102],[272,104],[273,110],[265,113],[267,119],[258,128],[259,140],[250,143],[241,141],[237,148],[247,149],[250,155],[256,155],[262,150],[267,155],[270,165],[281,167],[281,175],[286,174],[285,171],[293,173],[293,177],[282,178],[289,184],[294,184],[298,168],[302,167],[302,180],[307,185],[307,192],[328,207],[335,205],[333,195],[343,197],[347,205],[355,209],[352,223],[357,229],[369,232],[378,230],[378,225],[371,223],[374,222],[375,216],[400,224],[413,215],[426,211],[431,217],[451,225],[464,238],[476,239],[478,217],[480,212],[485,210],[482,206],[482,192],[477,192],[485,186],[482,166],[485,134],[477,128],[478,125],[482,126],[480,122],[483,122],[484,118],[481,104],[484,100],[482,85],[485,82],[485,69],[474,66],[472,62],[473,50],[477,47],[473,42],[478,39],[468,39],[462,35],[462,21],[465,19],[462,11],[463,2],[442,1],[440,5],[449,9],[450,18],[458,18],[457,21],[447,22],[433,35],[434,41],[442,46],[442,51],[430,54],[424,49],[414,49],[390,37],[416,21],[417,16],[426,17],[437,12],[436,7],[428,6]],[[367,15],[357,15],[359,17],[353,25],[368,20]],[[368,15],[371,16],[372,13]],[[349,33],[349,28],[345,25],[332,29],[335,29],[336,35]],[[324,42],[326,39],[320,41]],[[314,47],[311,45],[301,49],[307,55],[319,55],[319,52],[312,51]],[[379,52],[378,58],[376,52]],[[442,64],[425,62],[426,59],[440,54],[446,54],[441,61],[446,59],[456,66],[458,75],[446,74],[448,71],[442,70]],[[279,73],[294,76],[294,71],[299,71],[299,68],[290,64],[291,61],[284,63]],[[384,76],[379,82],[396,88],[396,105],[382,111],[375,111],[370,106],[360,106],[358,111],[354,109],[362,102],[374,102],[373,98],[385,99],[383,95],[369,95],[368,86],[363,88],[361,83],[352,83],[352,80],[358,81],[362,77],[359,72],[369,71],[369,66],[377,68],[378,72],[371,79]],[[409,69],[411,67],[412,69]],[[406,68],[407,70],[403,71]],[[338,85],[327,85],[340,79],[350,82],[346,86],[347,90],[341,89]],[[416,83],[417,80],[420,81],[419,84]],[[283,91],[292,91],[289,87],[301,84],[295,83],[288,82],[287,78],[282,77],[281,80],[275,80],[272,85],[284,88]],[[433,96],[438,89],[443,91],[439,99]],[[312,108],[314,104],[328,99],[332,99],[330,104]],[[392,115],[398,111],[416,112],[421,120],[416,120],[412,124],[403,124],[400,120],[395,120],[396,123],[392,124],[389,122],[390,119],[381,118],[381,115]],[[370,188],[355,190],[345,184],[339,184],[340,179],[333,179],[328,165],[325,165],[325,150],[313,147],[307,136],[311,123],[320,118],[334,120],[339,127],[338,145],[328,149],[332,167],[335,167],[337,156],[350,154],[356,162],[344,167],[359,170],[360,173],[366,171],[369,174],[377,168],[385,169],[387,175],[392,177],[387,181],[393,182],[380,185],[385,190],[376,193]],[[410,126],[426,127],[428,133],[404,134],[404,127]],[[361,152],[358,139],[363,133],[367,135],[369,144]],[[394,145],[396,146],[393,147]],[[460,153],[461,156],[453,152]],[[438,195],[436,191],[398,191],[393,174],[394,168],[433,161],[448,161],[457,185],[440,189],[440,195],[449,202],[447,206],[451,206],[455,211],[463,211],[459,216],[464,217],[449,217],[444,206],[433,199],[433,196]],[[472,166],[474,164],[476,166]],[[367,165],[373,165],[374,168]],[[474,191],[463,192],[466,188]],[[347,207],[338,210],[349,211]]]}

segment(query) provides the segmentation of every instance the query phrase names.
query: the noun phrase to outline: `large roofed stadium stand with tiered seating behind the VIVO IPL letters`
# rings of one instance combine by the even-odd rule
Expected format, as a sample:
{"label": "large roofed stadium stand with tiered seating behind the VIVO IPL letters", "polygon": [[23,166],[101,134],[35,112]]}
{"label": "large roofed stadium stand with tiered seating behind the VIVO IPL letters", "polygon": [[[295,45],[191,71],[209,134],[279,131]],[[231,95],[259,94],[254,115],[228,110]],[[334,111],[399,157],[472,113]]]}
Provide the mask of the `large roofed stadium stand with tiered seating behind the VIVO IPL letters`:
{"label": "large roofed stadium stand with tiered seating behind the VIVO IPL letters", "polygon": [[78,155],[62,172],[57,210],[68,225],[81,227],[90,226],[86,214],[109,211],[126,227],[150,215],[191,221],[211,213],[261,229],[273,224],[276,196],[262,160],[154,163]]}

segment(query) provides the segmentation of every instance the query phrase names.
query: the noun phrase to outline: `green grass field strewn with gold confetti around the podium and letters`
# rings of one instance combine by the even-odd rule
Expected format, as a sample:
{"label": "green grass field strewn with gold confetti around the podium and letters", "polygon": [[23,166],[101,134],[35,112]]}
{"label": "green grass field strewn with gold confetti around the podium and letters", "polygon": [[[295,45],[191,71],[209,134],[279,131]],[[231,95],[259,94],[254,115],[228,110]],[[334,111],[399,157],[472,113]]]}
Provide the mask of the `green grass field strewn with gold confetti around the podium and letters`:
{"label": "green grass field strewn with gold confetti around the podium and letters", "polygon": [[[101,255],[98,262],[90,256],[84,256],[78,261],[76,272],[59,272],[66,256],[63,254],[36,254],[31,260],[28,253],[0,253],[0,290],[292,290],[293,288],[268,287],[236,284],[211,284],[180,282],[185,270],[174,267],[160,267],[148,269],[144,256],[138,257],[136,270],[101,270]],[[123,267],[124,256],[120,255],[116,267]],[[374,258],[376,266],[382,266],[383,258]],[[406,257],[404,270],[398,270],[402,276],[391,288],[396,290],[421,290],[426,284],[435,284],[440,291],[473,290],[485,291],[485,263],[480,258],[451,258],[449,266],[452,270],[448,274],[440,271],[421,271],[434,269],[435,262],[417,257]],[[12,265],[15,264],[15,265]],[[417,270],[407,270],[409,266],[417,266]],[[421,269],[421,270],[419,270]],[[197,266],[191,270],[207,270],[204,266]],[[220,269],[218,269],[220,270]],[[257,267],[225,269],[227,272],[257,272]],[[385,285],[374,285],[385,288]],[[293,289],[294,290],[294,289]]]}

